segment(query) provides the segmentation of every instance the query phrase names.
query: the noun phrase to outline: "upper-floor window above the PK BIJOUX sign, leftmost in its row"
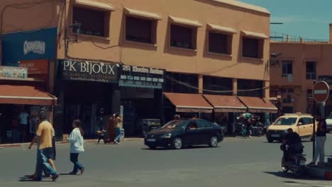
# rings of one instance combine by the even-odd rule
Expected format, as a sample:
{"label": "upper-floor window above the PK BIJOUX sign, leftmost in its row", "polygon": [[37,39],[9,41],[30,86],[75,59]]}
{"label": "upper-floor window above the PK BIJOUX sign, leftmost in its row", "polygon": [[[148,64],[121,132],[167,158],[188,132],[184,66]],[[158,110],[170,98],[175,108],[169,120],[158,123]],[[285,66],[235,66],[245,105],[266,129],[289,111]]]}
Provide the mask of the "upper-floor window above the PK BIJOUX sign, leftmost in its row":
{"label": "upper-floor window above the PK BIJOUX sign, leftmost in its row", "polygon": [[81,23],[79,33],[73,28],[72,32],[83,35],[109,37],[109,16],[107,11],[96,11],[88,8],[73,7],[73,23]]}

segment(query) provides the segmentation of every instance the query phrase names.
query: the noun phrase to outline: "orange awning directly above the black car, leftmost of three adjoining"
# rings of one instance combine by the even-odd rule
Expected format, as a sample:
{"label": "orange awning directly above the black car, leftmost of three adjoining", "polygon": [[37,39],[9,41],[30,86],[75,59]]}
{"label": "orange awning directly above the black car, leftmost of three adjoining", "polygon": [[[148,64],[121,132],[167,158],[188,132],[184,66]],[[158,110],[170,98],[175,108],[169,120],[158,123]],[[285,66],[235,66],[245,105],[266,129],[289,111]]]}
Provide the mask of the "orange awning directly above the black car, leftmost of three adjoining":
{"label": "orange awning directly above the black car, leftmost of three adjoining", "polygon": [[164,93],[179,113],[212,113],[213,107],[201,94]]}

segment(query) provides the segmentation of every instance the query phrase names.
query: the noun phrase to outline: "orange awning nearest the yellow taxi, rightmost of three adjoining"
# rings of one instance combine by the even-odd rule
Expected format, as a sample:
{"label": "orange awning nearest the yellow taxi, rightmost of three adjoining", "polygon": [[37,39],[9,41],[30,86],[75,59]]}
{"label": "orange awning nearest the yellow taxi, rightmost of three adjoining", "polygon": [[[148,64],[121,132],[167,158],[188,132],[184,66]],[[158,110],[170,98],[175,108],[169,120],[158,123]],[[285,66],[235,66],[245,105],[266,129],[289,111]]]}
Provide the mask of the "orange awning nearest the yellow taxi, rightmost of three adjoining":
{"label": "orange awning nearest the yellow taxi, rightmost of three adjoining", "polygon": [[277,113],[278,108],[275,107],[268,99],[259,97],[243,97],[239,96],[245,106],[248,107],[249,113]]}

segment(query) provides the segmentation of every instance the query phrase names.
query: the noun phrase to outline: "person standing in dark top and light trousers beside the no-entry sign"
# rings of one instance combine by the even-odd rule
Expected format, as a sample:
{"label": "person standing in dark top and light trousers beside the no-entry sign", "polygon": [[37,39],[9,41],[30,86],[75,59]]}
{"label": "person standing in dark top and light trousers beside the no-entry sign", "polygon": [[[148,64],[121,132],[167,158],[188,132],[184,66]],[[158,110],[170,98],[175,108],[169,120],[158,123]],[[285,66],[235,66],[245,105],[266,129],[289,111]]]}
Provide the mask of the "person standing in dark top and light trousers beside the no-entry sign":
{"label": "person standing in dark top and light trousers beside the no-entry sign", "polygon": [[316,148],[315,148],[315,156],[312,162],[310,163],[311,165],[315,165],[316,161],[319,157],[319,164],[324,163],[325,159],[325,142],[326,142],[326,120],[321,118],[321,114],[316,116],[318,126],[317,126],[317,131],[316,131]]}

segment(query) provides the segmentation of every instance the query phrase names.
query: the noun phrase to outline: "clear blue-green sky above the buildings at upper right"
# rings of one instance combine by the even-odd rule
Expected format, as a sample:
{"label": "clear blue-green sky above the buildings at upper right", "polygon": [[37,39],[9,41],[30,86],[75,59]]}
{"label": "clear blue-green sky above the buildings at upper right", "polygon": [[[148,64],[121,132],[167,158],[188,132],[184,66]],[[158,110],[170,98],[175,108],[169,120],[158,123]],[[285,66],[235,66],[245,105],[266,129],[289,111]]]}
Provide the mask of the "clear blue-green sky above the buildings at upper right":
{"label": "clear blue-green sky above the buildings at upper right", "polygon": [[332,0],[238,0],[262,6],[271,13],[272,32],[289,34],[312,40],[329,39],[332,23]]}

